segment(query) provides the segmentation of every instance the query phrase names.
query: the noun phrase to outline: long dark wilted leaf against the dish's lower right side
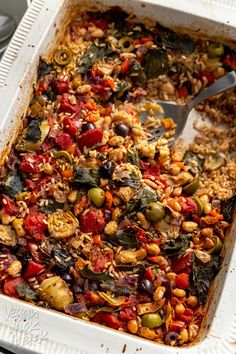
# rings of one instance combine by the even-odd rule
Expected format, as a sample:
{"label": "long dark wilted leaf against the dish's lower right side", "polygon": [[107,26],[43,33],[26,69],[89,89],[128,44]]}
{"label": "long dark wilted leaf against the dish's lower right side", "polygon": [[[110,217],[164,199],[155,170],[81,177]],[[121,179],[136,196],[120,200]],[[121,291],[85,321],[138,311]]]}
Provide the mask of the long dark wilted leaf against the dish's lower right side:
{"label": "long dark wilted leaf against the dish's lower right side", "polygon": [[193,259],[192,283],[198,295],[200,304],[204,304],[213,279],[219,271],[220,257],[211,256],[208,263],[203,263],[197,257]]}

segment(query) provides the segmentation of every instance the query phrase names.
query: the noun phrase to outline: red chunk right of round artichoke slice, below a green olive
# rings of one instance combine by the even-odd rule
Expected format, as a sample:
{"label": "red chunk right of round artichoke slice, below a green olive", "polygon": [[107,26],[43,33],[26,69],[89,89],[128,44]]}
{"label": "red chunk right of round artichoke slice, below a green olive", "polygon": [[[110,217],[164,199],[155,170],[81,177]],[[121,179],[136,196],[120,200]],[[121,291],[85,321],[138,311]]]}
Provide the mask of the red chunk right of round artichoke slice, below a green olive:
{"label": "red chunk right of round artichoke slice, below a green olive", "polygon": [[105,226],[105,219],[94,210],[88,210],[80,216],[80,229],[82,232],[97,233]]}

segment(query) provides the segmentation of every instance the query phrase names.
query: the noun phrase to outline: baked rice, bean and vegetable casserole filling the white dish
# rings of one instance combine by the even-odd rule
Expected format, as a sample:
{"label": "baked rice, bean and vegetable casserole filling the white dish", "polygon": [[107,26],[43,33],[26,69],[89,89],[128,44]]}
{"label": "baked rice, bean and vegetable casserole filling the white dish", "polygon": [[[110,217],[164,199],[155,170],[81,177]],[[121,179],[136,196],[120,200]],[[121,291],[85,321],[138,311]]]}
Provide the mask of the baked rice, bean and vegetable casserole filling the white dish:
{"label": "baked rice, bean and vegetable casserole filling the white dish", "polygon": [[236,52],[217,41],[119,8],[74,13],[40,58],[0,167],[1,293],[193,342],[235,206],[236,94],[197,107],[189,146],[173,144],[174,117],[155,99],[187,102],[233,69]]}

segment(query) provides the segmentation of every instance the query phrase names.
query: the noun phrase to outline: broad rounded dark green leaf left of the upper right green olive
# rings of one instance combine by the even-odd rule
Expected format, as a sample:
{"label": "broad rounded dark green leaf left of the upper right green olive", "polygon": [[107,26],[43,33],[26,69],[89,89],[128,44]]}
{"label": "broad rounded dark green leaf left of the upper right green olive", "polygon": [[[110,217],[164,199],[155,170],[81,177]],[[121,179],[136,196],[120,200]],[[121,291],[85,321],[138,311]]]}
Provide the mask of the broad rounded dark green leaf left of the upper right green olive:
{"label": "broad rounded dark green leaf left of the upper right green olive", "polygon": [[169,71],[167,53],[163,49],[149,49],[144,61],[144,72],[147,79],[165,75]]}

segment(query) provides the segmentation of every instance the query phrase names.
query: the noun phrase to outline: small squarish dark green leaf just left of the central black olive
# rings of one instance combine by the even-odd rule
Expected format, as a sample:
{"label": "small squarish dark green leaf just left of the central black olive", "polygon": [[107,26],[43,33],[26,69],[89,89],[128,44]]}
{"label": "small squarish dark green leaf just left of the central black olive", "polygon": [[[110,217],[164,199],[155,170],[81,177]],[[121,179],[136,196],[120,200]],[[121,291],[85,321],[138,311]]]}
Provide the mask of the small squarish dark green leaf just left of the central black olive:
{"label": "small squarish dark green leaf just left of the central black olive", "polygon": [[77,167],[74,174],[74,184],[97,187],[99,182],[99,170],[86,167]]}

